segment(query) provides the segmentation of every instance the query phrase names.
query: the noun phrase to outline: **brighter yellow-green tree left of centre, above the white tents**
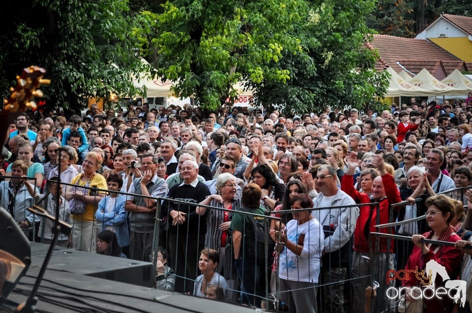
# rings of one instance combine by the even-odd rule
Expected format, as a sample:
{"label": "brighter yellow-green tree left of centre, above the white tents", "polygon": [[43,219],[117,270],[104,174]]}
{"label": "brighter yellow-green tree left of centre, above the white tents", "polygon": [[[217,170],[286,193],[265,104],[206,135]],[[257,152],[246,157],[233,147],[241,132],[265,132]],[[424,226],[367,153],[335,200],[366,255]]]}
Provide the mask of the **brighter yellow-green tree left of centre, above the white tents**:
{"label": "brighter yellow-green tree left of centre, above the white tents", "polygon": [[175,82],[181,97],[217,109],[234,97],[234,83],[265,78],[286,81],[277,64],[283,51],[302,53],[294,26],[301,16],[299,0],[176,0],[163,14],[143,12],[142,50],[156,74]]}

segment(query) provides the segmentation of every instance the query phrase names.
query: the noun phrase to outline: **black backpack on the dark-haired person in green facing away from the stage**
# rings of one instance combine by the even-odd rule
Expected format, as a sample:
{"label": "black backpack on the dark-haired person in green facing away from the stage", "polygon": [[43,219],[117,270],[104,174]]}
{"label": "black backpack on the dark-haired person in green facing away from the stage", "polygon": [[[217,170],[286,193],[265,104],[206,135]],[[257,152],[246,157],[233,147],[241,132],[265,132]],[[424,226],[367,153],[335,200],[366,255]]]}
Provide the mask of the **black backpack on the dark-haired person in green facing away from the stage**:
{"label": "black backpack on the dark-haired person in green facing away from the stage", "polygon": [[[242,212],[252,213],[249,209],[241,207],[238,209]],[[245,216],[245,220],[249,220],[249,225],[252,225],[252,232],[248,232],[248,229],[244,232],[244,252],[247,252],[247,257],[250,260],[255,260],[258,265],[264,267],[271,267],[273,262],[272,251],[275,247],[275,242],[270,238],[267,232],[268,249],[266,250],[266,229],[268,230],[268,220],[260,219],[255,220],[253,216]],[[267,226],[266,226],[267,224]],[[246,255],[245,255],[246,257]]]}

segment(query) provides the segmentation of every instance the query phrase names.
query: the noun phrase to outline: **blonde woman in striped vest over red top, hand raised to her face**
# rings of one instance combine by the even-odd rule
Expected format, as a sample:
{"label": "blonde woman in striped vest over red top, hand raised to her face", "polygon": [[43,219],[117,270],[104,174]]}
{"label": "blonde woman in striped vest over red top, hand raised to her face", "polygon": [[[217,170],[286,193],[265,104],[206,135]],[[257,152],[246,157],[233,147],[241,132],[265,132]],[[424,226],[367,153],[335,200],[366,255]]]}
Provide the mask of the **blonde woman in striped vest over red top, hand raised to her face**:
{"label": "blonde woman in striped vest over red top, hand raised to her face", "polygon": [[231,279],[231,264],[233,258],[230,250],[226,253],[226,247],[231,244],[231,234],[229,227],[231,224],[232,212],[241,206],[240,197],[236,196],[236,177],[230,173],[222,173],[216,179],[217,194],[213,194],[200,202],[201,205],[211,206],[226,210],[207,209],[197,207],[196,213],[205,214],[207,211],[207,235],[205,236],[205,246],[219,252],[220,262],[218,272],[226,278]]}

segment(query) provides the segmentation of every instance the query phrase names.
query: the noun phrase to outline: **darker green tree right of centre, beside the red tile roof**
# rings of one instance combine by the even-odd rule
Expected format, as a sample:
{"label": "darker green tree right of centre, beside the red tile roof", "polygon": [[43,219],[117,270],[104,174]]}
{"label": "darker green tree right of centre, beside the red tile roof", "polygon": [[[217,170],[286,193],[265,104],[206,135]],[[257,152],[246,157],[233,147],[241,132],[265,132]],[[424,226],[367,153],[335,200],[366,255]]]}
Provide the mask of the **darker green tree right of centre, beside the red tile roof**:
{"label": "darker green tree right of centre, beside the red tile roof", "polygon": [[286,54],[282,67],[290,79],[285,84],[266,79],[254,85],[256,100],[296,113],[327,106],[379,106],[376,99],[386,90],[386,77],[374,70],[377,53],[364,46],[371,31],[365,26],[365,14],[373,6],[372,1],[314,2],[299,26],[302,49],[308,53]]}

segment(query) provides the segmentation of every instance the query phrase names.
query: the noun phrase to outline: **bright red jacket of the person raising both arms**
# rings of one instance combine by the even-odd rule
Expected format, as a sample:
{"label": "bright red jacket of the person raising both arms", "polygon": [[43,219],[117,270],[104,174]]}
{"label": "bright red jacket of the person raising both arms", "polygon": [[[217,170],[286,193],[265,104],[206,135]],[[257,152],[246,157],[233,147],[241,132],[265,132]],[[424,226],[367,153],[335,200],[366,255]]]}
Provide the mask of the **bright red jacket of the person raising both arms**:
{"label": "bright red jacket of the person raising both arms", "polygon": [[[383,188],[385,189],[386,197],[380,201],[380,224],[390,222],[390,204],[401,202],[400,191],[393,176],[385,174],[382,176]],[[341,179],[341,190],[350,195],[357,204],[378,202],[370,199],[369,195],[363,192],[358,192],[354,188],[354,178],[351,175],[345,174]],[[370,226],[368,226],[370,223]],[[376,229],[377,225],[377,208],[376,206],[361,206],[359,207],[359,217],[355,224],[354,230],[354,250],[360,252],[369,252],[369,234],[371,232],[380,231],[381,233],[394,234],[393,229]],[[368,230],[366,232],[366,227]],[[373,246],[375,241],[372,242]],[[393,240],[390,240],[390,252],[393,253]],[[379,252],[386,252],[387,239],[380,238]]]}

